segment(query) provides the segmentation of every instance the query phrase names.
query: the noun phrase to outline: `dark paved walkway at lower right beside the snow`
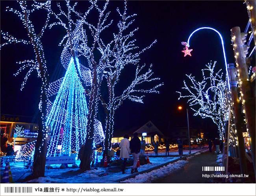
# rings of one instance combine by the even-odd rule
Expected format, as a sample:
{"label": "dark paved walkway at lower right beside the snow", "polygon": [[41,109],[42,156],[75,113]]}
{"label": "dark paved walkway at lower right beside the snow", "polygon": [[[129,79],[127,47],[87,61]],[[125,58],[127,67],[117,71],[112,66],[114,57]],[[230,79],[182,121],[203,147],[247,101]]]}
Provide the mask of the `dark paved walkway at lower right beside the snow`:
{"label": "dark paved walkway at lower right beside the snow", "polygon": [[204,152],[187,160],[189,162],[182,169],[152,183],[211,183],[211,178],[202,177],[202,174],[211,175],[215,171],[202,171],[202,167],[219,166],[216,162],[217,154]]}

